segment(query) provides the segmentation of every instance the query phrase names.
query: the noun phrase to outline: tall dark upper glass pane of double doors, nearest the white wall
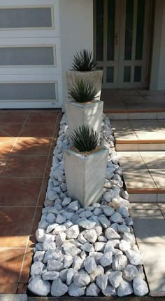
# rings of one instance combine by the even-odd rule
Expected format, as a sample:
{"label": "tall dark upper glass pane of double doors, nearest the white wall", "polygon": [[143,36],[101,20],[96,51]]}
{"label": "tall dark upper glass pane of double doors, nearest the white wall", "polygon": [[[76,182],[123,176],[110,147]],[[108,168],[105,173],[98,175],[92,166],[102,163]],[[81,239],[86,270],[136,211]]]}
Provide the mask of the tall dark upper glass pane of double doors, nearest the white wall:
{"label": "tall dark upper glass pane of double doors, nearest the white wall", "polygon": [[114,60],[115,0],[108,0],[107,60]]}

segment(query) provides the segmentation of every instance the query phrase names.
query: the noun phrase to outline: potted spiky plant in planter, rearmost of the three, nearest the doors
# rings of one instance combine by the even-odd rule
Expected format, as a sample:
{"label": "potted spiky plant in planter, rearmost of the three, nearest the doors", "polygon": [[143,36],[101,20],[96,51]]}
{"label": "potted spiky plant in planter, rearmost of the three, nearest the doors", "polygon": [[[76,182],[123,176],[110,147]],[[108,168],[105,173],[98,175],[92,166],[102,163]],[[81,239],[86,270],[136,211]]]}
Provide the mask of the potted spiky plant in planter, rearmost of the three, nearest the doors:
{"label": "potted spiky plant in planter, rearmost of the three, nearest the doors", "polygon": [[94,70],[95,67],[96,62],[92,58],[91,51],[84,49],[80,53],[76,53],[73,57],[73,69],[66,72],[68,88],[71,88],[77,79],[90,80],[96,89],[96,100],[100,100],[103,71]]}

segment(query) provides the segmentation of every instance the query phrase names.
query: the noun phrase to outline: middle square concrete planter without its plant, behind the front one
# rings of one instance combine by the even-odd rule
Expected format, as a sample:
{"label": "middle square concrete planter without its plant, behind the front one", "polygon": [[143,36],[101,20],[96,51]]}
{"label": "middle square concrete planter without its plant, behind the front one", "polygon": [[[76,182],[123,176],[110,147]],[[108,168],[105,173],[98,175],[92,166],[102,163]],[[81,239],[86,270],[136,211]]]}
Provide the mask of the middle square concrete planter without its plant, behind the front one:
{"label": "middle square concrete planter without its plant, behind the front one", "polygon": [[82,126],[90,126],[100,136],[101,119],[103,114],[103,102],[98,100],[90,103],[85,102],[65,102],[67,123],[69,126],[69,136],[75,128]]}

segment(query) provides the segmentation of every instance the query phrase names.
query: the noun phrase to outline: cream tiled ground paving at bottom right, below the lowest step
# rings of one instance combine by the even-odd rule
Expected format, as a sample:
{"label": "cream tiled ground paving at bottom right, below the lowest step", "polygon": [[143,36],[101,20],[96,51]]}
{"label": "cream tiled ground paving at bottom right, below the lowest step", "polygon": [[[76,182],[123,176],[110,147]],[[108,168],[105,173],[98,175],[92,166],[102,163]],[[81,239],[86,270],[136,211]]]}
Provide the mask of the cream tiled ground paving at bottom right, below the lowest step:
{"label": "cream tiled ground paving at bottom right, below the lowest step", "polygon": [[133,203],[130,214],[150,295],[165,300],[165,203]]}

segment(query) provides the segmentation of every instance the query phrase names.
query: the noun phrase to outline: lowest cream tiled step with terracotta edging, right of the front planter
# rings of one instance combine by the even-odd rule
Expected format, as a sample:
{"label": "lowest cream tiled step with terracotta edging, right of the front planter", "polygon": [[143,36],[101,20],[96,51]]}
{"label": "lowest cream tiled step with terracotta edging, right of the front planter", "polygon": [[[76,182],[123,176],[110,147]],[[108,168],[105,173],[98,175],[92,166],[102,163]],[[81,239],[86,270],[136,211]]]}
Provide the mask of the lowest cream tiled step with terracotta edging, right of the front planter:
{"label": "lowest cream tiled step with terracotta edging, right of the front planter", "polygon": [[117,152],[129,201],[165,203],[165,152]]}

